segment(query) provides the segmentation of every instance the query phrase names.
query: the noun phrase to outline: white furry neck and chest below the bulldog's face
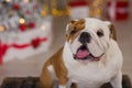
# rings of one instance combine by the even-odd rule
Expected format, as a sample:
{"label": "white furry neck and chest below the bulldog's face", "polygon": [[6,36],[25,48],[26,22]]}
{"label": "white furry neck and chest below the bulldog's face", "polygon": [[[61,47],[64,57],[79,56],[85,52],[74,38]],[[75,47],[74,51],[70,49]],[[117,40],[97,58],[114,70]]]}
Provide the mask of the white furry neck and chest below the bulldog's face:
{"label": "white furry neck and chest below the bulldog's face", "polygon": [[[102,58],[100,62],[81,64],[73,58],[72,51],[66,43],[64,62],[68,69],[69,79],[73,80],[73,82],[77,82],[78,88],[98,88],[102,84],[113,80],[118,74],[121,74],[122,66],[122,55],[116,42],[113,42],[103,57],[107,58]],[[114,79],[114,81],[121,81],[120,77],[121,76],[119,76],[119,79],[116,77],[117,79]],[[117,85],[119,85],[119,87]],[[118,82],[116,87],[114,85],[113,87],[121,88],[120,85],[121,82]]]}

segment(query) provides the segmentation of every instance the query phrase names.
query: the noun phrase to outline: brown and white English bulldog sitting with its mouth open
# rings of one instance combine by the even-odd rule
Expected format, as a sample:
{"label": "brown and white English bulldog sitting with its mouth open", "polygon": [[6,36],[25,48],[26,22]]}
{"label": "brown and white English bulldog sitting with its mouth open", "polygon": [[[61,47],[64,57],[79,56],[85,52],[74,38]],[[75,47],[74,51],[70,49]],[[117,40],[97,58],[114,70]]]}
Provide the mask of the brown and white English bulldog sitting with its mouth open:
{"label": "brown and white English bulldog sitting with its mouth open", "polygon": [[66,42],[43,67],[41,88],[99,88],[110,82],[122,88],[122,53],[114,26],[94,18],[70,21],[66,26]]}

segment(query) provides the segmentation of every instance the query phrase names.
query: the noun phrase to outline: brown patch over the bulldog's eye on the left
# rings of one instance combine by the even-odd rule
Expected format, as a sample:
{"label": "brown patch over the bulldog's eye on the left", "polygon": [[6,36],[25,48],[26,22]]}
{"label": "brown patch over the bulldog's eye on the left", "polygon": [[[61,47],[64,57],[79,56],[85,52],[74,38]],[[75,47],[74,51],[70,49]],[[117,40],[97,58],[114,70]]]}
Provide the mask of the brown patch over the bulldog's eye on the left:
{"label": "brown patch over the bulldog's eye on the left", "polygon": [[73,42],[76,36],[79,34],[79,31],[85,29],[85,19],[80,19],[77,21],[70,21],[69,28],[68,28],[68,34],[67,34],[67,41]]}

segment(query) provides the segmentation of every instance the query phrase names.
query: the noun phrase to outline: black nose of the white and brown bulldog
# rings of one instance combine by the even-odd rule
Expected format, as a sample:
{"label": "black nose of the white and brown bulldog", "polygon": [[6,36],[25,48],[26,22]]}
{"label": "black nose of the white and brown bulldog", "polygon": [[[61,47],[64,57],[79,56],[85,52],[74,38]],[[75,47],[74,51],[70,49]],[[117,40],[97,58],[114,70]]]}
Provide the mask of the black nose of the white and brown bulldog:
{"label": "black nose of the white and brown bulldog", "polygon": [[81,44],[86,44],[86,43],[89,43],[91,40],[91,36],[88,32],[82,32],[79,36],[79,42]]}

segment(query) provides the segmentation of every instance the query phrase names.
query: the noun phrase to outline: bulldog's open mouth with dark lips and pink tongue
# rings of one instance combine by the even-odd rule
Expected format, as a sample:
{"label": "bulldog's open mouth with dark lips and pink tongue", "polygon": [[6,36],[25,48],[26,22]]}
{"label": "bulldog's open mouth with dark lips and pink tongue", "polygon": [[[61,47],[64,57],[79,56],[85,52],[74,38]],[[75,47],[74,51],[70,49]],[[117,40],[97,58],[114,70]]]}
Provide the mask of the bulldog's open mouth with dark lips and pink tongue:
{"label": "bulldog's open mouth with dark lips and pink tongue", "polygon": [[89,52],[87,45],[81,45],[81,46],[77,50],[76,54],[74,54],[74,58],[75,58],[75,59],[78,59],[78,61],[86,61],[86,59],[88,59],[88,61],[100,61],[100,58],[101,58],[102,55],[103,55],[103,54],[101,54],[101,55],[98,56],[98,57],[95,57],[95,56]]}

